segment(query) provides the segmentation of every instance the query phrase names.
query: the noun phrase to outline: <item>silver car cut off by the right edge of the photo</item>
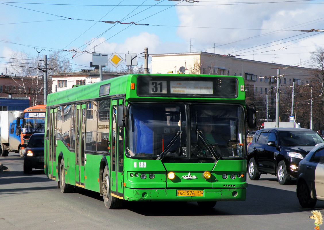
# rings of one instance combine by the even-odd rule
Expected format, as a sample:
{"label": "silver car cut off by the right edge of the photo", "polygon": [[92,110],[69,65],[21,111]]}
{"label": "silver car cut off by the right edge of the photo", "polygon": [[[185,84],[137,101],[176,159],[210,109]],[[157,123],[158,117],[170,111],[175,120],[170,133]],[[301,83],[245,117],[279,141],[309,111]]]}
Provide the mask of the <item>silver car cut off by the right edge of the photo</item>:
{"label": "silver car cut off by the right edge of the photo", "polygon": [[303,208],[324,200],[324,143],[317,144],[299,163],[297,197]]}

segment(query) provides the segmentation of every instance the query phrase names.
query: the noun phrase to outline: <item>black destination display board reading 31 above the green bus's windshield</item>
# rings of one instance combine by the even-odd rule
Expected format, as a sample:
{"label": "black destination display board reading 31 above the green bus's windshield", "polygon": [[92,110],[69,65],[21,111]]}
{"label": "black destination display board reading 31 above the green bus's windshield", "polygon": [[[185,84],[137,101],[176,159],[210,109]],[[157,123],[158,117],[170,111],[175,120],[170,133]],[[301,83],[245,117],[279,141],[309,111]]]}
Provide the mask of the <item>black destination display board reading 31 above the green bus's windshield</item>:
{"label": "black destination display board reading 31 above the green bus's windshield", "polygon": [[236,98],[236,78],[224,77],[138,77],[137,95],[143,97],[213,97]]}

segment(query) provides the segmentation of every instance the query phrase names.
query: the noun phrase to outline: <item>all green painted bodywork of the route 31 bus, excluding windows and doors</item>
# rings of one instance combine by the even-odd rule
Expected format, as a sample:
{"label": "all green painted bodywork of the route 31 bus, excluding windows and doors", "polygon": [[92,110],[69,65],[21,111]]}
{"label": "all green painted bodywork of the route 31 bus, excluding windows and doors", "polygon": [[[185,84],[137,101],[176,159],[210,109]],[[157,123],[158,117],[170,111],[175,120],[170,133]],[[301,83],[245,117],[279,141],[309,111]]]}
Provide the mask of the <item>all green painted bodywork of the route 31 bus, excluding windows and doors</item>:
{"label": "all green painted bodywork of the route 31 bus, excluding windows and doors", "polygon": [[[100,100],[102,97],[123,96],[125,105],[131,102],[213,102],[213,103],[239,103],[245,106],[245,92],[243,77],[218,76],[222,78],[236,78],[238,80],[237,98],[193,98],[193,97],[140,97],[137,95],[137,77],[148,76],[158,78],[163,77],[185,77],[185,78],[210,78],[211,75],[187,75],[187,74],[129,74],[115,77],[104,81],[91,83],[75,87],[72,89],[51,93],[47,97],[47,108],[55,108],[58,105],[79,103],[79,101]],[[110,92],[108,95],[99,96],[101,85],[110,83]],[[135,89],[131,90],[131,83],[135,84]],[[110,108],[112,110],[112,108]],[[48,113],[48,111],[46,112]],[[48,116],[46,115],[46,123]],[[125,133],[125,132],[124,132]],[[109,134],[110,135],[110,134]],[[124,134],[125,135],[125,134]],[[125,148],[125,144],[123,144]],[[69,151],[61,140],[57,140],[56,162],[53,162],[53,168],[57,170],[59,165],[60,152],[64,158],[65,182],[75,185],[78,181],[78,168],[75,165],[75,152]],[[84,181],[86,189],[100,192],[100,163],[103,157],[107,160],[109,174],[110,156],[103,154],[85,153]],[[52,162],[49,161],[49,140],[45,140],[45,173],[47,176],[53,174],[55,180],[59,180],[56,170],[51,172]],[[83,170],[83,169],[82,169]],[[102,170],[102,169],[101,169]],[[212,176],[209,179],[203,177],[205,171],[210,171]],[[173,172],[176,178],[170,180],[167,178],[168,172]],[[115,174],[115,172],[113,172]],[[223,174],[226,179],[222,178]],[[141,175],[146,178],[142,179]],[[154,178],[150,179],[150,174]],[[236,175],[234,179],[230,175]],[[123,196],[124,200],[130,201],[220,201],[220,200],[245,200],[246,197],[246,160],[219,160],[215,163],[163,163],[160,160],[131,159],[126,157],[123,151],[123,173],[122,186],[120,193],[118,187],[118,196]],[[136,176],[137,175],[137,176]],[[240,176],[240,175],[243,175]],[[83,177],[83,175],[81,176]],[[188,179],[189,178],[189,179]],[[191,178],[191,179],[190,179]],[[54,179],[54,178],[52,178]],[[112,179],[112,178],[111,178]],[[116,181],[111,182],[112,191],[116,189]],[[202,190],[202,197],[178,196],[177,190]]]}

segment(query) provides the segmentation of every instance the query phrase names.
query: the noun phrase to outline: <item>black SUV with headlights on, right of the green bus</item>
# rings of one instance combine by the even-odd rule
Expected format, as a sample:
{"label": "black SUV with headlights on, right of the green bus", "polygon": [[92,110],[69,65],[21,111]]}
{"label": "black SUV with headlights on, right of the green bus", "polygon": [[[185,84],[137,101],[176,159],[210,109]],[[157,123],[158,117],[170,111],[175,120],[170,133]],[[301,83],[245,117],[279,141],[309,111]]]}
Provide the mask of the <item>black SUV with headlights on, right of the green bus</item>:
{"label": "black SUV with headlights on, right of the green bus", "polygon": [[297,176],[298,163],[324,140],[306,128],[265,128],[258,130],[248,146],[248,174],[258,180],[261,174],[277,175],[281,185]]}

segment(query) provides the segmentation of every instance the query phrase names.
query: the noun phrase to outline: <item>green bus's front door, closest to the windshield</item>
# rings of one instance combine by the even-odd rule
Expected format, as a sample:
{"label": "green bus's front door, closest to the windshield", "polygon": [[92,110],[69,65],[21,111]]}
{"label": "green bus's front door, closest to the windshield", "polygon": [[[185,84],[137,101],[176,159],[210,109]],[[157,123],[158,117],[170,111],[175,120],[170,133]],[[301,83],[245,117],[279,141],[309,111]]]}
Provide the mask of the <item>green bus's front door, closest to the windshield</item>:
{"label": "green bus's front door, closest to the windshield", "polygon": [[123,197],[123,137],[124,128],[116,126],[117,106],[122,104],[122,99],[111,100],[110,106],[110,178],[111,193],[119,198]]}

